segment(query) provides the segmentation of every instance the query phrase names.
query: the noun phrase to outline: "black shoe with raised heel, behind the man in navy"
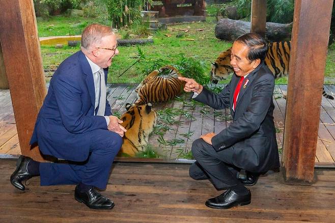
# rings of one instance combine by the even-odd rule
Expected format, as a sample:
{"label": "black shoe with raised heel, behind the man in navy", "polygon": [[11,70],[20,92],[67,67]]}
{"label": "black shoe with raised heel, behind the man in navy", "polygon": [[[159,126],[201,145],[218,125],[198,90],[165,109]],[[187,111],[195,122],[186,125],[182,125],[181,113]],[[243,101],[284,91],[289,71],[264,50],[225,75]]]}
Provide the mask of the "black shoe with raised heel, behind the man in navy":
{"label": "black shoe with raised heel, behind the man in navy", "polygon": [[22,182],[33,177],[28,172],[28,164],[32,161],[32,158],[26,156],[20,156],[16,162],[16,170],[11,176],[11,183],[19,190],[25,190],[25,186]]}

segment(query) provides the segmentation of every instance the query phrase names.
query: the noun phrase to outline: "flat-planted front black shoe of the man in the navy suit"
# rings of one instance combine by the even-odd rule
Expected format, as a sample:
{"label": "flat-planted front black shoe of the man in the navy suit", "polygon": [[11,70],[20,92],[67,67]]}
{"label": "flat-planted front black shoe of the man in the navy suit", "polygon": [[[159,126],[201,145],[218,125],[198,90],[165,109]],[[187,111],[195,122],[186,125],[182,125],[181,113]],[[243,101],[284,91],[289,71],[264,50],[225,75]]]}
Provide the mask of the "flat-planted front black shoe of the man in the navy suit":
{"label": "flat-planted front black shoe of the man in the navy suit", "polygon": [[113,201],[102,196],[94,187],[85,192],[80,192],[78,186],[76,186],[74,199],[93,209],[111,209],[115,205]]}

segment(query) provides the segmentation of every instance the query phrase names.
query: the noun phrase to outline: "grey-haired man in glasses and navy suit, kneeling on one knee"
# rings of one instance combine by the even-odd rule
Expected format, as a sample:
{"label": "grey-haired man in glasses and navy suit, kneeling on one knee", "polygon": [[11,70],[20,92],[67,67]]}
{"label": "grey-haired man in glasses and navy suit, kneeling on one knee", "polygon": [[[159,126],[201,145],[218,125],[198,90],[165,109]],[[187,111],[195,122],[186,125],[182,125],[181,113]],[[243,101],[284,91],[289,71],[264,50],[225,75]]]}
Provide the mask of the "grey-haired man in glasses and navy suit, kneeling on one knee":
{"label": "grey-haired man in glasses and navy suit, kneeling on one knee", "polygon": [[41,185],[76,184],[74,198],[90,208],[111,209],[105,189],[114,157],[126,131],[106,100],[108,67],[119,53],[109,26],[91,24],[81,35],[81,50],[63,61],[50,80],[38,114],[31,144],[58,163],[37,162],[20,156],[11,183],[40,176]]}

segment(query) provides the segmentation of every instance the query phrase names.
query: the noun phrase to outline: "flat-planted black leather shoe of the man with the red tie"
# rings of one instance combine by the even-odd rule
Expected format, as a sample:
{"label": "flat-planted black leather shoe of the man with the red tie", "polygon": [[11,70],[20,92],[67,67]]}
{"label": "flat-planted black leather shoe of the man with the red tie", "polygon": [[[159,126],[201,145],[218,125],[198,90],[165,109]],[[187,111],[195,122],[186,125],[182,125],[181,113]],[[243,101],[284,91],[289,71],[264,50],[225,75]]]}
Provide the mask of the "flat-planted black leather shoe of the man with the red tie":
{"label": "flat-planted black leather shoe of the man with the red tie", "polygon": [[245,193],[237,193],[233,189],[228,189],[221,195],[208,199],[205,203],[207,207],[218,208],[218,209],[228,209],[237,205],[248,205],[251,202],[250,190]]}

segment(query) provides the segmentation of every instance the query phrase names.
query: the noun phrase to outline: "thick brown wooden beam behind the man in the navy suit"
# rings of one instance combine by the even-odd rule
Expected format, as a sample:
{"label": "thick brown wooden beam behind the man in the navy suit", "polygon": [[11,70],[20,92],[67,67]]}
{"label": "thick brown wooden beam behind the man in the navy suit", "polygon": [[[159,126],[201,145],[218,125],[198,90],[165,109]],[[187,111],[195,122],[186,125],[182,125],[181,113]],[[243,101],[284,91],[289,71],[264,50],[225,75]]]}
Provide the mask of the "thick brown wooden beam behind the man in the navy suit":
{"label": "thick brown wooden beam behind the man in the navy suit", "polygon": [[29,145],[46,95],[33,0],[0,0],[0,40],[21,153],[42,160]]}

